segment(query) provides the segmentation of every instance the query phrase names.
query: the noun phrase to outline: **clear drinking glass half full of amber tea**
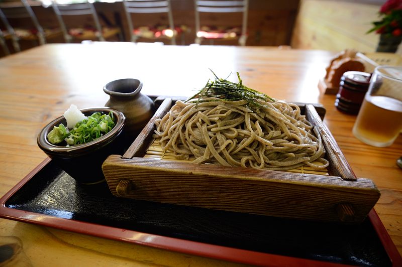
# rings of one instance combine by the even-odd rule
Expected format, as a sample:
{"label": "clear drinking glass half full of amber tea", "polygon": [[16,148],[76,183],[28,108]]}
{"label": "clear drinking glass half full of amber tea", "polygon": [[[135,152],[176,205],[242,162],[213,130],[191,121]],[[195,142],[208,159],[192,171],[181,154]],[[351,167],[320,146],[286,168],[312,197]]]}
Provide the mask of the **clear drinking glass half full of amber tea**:
{"label": "clear drinking glass half full of amber tea", "polygon": [[392,145],[402,130],[402,67],[375,68],[353,135],[368,145]]}

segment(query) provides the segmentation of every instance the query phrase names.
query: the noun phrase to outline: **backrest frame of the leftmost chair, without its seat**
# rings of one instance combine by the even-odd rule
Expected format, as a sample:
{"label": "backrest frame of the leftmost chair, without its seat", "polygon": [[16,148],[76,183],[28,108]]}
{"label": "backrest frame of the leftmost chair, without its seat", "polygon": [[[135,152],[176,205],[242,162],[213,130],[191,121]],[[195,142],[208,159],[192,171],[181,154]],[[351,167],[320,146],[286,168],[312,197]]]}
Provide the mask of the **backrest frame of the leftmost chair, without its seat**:
{"label": "backrest frame of the leftmost chair, without its seat", "polygon": [[[14,49],[19,52],[21,51],[20,44],[19,44],[19,38],[13,28],[13,26],[10,24],[10,20],[13,19],[30,19],[32,22],[32,25],[35,27],[37,30],[36,36],[39,41],[39,45],[46,44],[46,39],[45,39],[45,32],[42,28],[42,26],[39,24],[38,18],[36,17],[35,13],[33,12],[31,6],[28,4],[27,0],[21,0],[22,5],[10,5],[10,3],[4,3],[0,5],[0,19],[2,20],[4,26],[7,28],[8,33],[11,35],[11,38],[13,40],[13,46]],[[32,27],[30,25],[27,28]]]}

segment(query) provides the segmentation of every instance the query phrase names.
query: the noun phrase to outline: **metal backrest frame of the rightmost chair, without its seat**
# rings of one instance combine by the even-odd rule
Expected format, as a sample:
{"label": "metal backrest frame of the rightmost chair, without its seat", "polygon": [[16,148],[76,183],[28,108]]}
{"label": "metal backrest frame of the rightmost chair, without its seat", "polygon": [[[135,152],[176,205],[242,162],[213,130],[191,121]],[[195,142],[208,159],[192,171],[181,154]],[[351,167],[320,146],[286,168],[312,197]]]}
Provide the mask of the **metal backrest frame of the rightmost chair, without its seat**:
{"label": "metal backrest frame of the rightmost chair, without its seat", "polygon": [[[243,13],[242,31],[239,44],[246,45],[247,40],[247,16],[248,0],[225,1],[225,0],[194,0],[195,7],[195,33],[200,31],[199,13]],[[196,37],[195,43],[200,44],[201,38]]]}

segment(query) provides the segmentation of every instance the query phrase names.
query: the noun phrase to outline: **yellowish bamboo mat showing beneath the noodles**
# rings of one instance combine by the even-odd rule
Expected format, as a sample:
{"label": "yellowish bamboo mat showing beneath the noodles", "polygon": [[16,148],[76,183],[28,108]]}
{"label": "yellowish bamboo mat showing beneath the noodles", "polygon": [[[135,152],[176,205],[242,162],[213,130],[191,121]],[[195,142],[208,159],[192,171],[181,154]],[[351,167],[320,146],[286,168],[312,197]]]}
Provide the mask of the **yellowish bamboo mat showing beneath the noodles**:
{"label": "yellowish bamboo mat showing beneath the noodles", "polygon": [[[152,144],[149,146],[144,158],[160,159],[162,161],[177,161],[177,162],[192,162],[194,158],[188,160],[179,160],[174,157],[172,151],[163,151],[158,139],[154,139]],[[321,162],[314,162],[314,164],[322,165]],[[287,170],[290,173],[302,173],[302,174],[320,174],[329,175],[327,169],[315,170],[310,166],[302,166],[297,169]]]}

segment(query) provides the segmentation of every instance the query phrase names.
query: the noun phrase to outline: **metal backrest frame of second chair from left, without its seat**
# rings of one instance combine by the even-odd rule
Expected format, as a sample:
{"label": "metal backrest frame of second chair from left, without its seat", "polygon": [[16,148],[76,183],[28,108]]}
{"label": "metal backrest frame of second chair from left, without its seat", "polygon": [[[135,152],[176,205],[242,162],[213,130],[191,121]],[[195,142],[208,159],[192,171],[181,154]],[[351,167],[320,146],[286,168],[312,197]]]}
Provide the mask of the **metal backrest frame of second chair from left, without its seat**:
{"label": "metal backrest frame of second chair from left, without its seat", "polygon": [[95,29],[97,31],[96,37],[99,39],[99,41],[105,41],[105,37],[102,34],[102,27],[100,26],[99,18],[92,3],[57,4],[56,1],[53,1],[52,7],[60,24],[60,28],[63,31],[64,39],[67,43],[70,43],[73,38],[68,33],[68,29],[63,20],[63,16],[92,16]]}

